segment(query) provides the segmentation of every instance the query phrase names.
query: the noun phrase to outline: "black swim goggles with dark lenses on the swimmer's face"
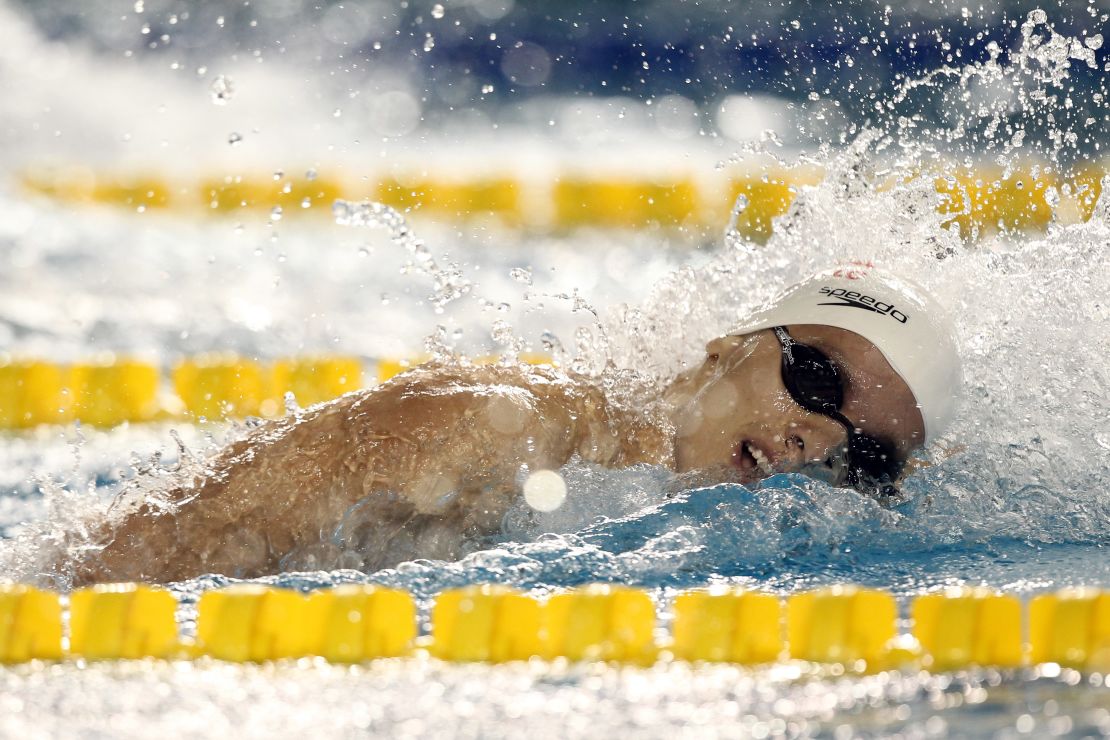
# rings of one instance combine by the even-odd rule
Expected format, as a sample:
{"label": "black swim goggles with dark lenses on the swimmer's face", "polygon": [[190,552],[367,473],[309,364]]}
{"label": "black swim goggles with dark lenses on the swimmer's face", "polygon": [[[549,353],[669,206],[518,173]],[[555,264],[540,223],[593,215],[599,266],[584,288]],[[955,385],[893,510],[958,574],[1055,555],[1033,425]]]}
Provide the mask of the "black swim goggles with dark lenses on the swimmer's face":
{"label": "black swim goggles with dark lenses on the swimmer's face", "polygon": [[785,326],[775,326],[773,331],[783,348],[783,384],[787,393],[807,412],[838,422],[848,433],[845,454],[848,484],[880,497],[894,495],[894,481],[902,464],[890,445],[864,434],[840,413],[844,384],[837,366],[820,349],[796,342]]}

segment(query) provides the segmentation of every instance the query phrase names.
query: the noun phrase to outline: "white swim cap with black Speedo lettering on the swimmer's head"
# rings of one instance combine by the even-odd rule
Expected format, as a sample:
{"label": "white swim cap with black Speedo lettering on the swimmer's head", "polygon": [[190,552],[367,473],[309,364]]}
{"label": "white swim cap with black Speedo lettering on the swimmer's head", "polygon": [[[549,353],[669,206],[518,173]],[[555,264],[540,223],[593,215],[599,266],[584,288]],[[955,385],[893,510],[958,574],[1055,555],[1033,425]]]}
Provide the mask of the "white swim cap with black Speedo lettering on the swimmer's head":
{"label": "white swim cap with black Speedo lettering on the swimmer's head", "polygon": [[878,347],[914,393],[926,442],[952,420],[960,386],[952,324],[918,285],[870,264],[842,265],[795,285],[730,333],[788,324],[846,328]]}

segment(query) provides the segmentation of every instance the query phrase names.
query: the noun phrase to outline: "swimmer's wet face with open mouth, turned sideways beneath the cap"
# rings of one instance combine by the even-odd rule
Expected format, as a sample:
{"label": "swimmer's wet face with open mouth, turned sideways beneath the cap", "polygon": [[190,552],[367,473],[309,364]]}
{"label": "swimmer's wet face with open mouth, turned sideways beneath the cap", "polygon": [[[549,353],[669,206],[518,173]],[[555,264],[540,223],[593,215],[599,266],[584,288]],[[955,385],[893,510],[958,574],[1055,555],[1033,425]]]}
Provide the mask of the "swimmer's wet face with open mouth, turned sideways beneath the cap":
{"label": "swimmer's wet face with open mouth, turned sideways beneath the cap", "polygon": [[[864,337],[831,326],[787,327],[840,371],[841,412],[864,434],[890,443],[899,459],[925,440],[909,386]],[[666,398],[676,428],[679,472],[729,466],[741,483],[801,470],[842,483],[847,433],[801,408],[783,384],[783,355],[771,331],[724,336],[706,346],[700,366],[680,375]]]}

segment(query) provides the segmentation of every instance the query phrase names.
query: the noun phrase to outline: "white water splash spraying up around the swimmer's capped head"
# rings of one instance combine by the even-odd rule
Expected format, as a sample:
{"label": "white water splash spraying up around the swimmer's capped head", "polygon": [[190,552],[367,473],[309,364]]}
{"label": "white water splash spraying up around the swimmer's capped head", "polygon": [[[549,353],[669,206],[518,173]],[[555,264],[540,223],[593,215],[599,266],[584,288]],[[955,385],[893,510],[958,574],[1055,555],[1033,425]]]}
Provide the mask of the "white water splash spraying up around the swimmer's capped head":
{"label": "white water splash spraying up around the swimmer's capped head", "polygon": [[[940,298],[965,357],[966,401],[956,427],[925,454],[931,466],[911,475],[905,487],[909,503],[896,511],[874,509],[861,497],[852,499],[855,494],[798,483],[788,507],[790,517],[806,523],[790,529],[797,547],[825,550],[833,541],[847,541],[857,550],[930,551],[960,544],[973,550],[977,543],[996,539],[1106,544],[1110,450],[1098,440],[1110,414],[1110,365],[1098,347],[1110,343],[1110,306],[1103,300],[1110,295],[1110,194],[1103,186],[1086,223],[1050,220],[1043,234],[1023,236],[1005,229],[969,234],[956,221],[971,214],[970,195],[963,194],[959,210],[946,209],[935,184],[951,178],[960,158],[971,152],[1000,158],[1000,179],[1020,170],[1021,152],[1041,152],[1048,163],[1033,169],[1031,180],[1063,178],[1082,121],[1053,95],[1067,87],[1073,62],[1099,63],[1087,53],[1096,49],[1056,33],[1040,13],[1022,26],[1021,39],[1009,54],[996,47],[988,61],[942,68],[901,84],[877,105],[882,115],[875,128],[842,149],[821,152],[824,181],[799,190],[775,221],[766,246],[736,233],[735,219],[746,205],[740,200],[726,231],[730,249],[662,281],[644,303],[618,306],[604,317],[604,331],[576,337],[578,356],[585,357],[578,368],[601,373],[615,364],[664,381],[698,358],[707,339],[727,332],[783,286],[833,264],[871,261],[911,276]],[[911,113],[922,95],[955,90],[957,100],[970,103],[982,85],[1012,88],[1016,98],[980,101],[950,125],[925,125]],[[1054,125],[1045,126],[1036,119],[1050,110],[1063,112]],[[1040,207],[1054,212],[1068,193],[1045,190]],[[804,498],[809,503],[798,508]],[[829,501],[841,508],[828,509]],[[726,528],[744,533],[739,541],[723,540],[704,551],[724,548],[738,554],[749,572],[774,571],[780,567],[775,564],[791,557],[788,538],[773,526],[750,529],[753,523],[767,525],[775,507],[766,496],[749,503]],[[829,524],[834,511],[844,516],[839,528]],[[574,531],[573,526],[562,529]],[[728,538],[708,520],[644,529],[678,540]],[[618,536],[606,526],[588,531],[602,540]],[[689,543],[676,547],[703,553]],[[746,548],[756,549],[749,555]],[[644,564],[656,562],[656,554],[650,555]],[[727,571],[726,564],[706,557],[687,565]]]}

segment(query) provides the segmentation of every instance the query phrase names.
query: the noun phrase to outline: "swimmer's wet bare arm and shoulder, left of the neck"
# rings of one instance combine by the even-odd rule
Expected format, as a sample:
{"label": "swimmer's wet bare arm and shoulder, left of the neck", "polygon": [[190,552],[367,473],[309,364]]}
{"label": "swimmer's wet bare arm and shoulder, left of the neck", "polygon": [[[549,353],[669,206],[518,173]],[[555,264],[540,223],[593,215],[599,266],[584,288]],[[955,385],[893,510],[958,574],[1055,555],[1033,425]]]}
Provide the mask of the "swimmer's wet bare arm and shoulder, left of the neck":
{"label": "swimmer's wet bare arm and shoulder, left of the neck", "polygon": [[450,526],[495,528],[522,466],[557,468],[578,444],[566,397],[496,379],[413,373],[264,425],[171,491],[176,510],[144,504],[113,525],[75,581],[272,571],[383,493]]}

